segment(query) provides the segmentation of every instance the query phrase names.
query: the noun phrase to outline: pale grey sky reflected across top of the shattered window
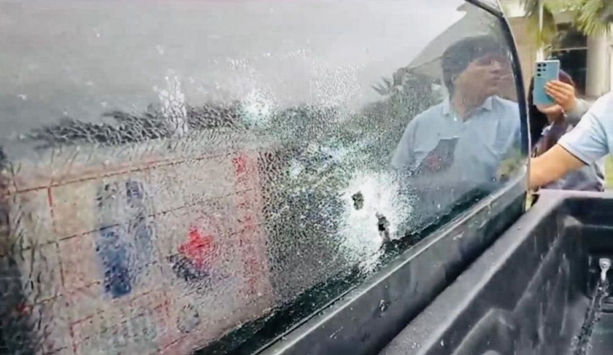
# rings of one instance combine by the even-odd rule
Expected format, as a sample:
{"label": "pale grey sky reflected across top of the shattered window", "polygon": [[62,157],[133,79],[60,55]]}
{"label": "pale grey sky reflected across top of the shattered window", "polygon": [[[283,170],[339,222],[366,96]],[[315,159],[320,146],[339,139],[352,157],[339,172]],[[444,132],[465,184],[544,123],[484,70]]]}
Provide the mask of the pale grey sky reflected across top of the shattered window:
{"label": "pale grey sky reflected across top of the shattered window", "polygon": [[357,107],[462,17],[459,0],[0,4],[0,140],[63,115],[145,110],[169,71],[192,105],[254,91]]}

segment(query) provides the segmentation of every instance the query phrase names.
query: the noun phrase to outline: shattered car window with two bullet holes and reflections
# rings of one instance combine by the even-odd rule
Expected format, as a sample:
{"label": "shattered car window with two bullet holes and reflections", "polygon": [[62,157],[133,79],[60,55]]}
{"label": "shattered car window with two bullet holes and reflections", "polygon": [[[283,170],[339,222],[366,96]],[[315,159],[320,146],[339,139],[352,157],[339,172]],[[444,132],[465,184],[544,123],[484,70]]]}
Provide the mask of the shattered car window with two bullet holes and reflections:
{"label": "shattered car window with two bullet holes and reflections", "polygon": [[356,286],[518,171],[497,21],[0,3],[0,352],[223,353]]}

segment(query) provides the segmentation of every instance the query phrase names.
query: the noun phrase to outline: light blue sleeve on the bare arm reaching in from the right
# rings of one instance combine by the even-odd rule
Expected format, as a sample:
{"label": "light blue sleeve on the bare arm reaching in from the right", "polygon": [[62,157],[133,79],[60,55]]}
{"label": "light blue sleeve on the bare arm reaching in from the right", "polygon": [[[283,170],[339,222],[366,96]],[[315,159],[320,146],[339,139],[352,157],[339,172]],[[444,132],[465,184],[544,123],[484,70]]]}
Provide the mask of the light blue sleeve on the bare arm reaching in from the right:
{"label": "light blue sleeve on the bare arm reaching in from the right", "polygon": [[[613,123],[613,117],[610,121]],[[585,164],[592,164],[609,153],[606,128],[592,110],[558,144]]]}

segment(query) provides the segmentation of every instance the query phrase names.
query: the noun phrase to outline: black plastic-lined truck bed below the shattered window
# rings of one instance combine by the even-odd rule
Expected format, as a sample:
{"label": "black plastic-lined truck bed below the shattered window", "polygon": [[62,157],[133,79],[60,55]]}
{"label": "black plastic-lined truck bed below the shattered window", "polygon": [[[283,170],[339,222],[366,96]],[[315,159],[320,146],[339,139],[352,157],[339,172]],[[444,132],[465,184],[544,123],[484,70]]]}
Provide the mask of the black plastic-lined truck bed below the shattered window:
{"label": "black plastic-lined truck bed below the shattered window", "polygon": [[546,191],[381,354],[613,354],[613,194]]}

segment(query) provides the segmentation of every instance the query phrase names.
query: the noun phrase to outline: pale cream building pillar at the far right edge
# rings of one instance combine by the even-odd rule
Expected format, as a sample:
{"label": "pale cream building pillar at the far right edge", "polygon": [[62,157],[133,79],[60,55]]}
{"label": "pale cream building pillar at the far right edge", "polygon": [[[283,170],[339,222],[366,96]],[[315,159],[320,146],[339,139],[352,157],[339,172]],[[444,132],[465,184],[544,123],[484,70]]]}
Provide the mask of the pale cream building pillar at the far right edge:
{"label": "pale cream building pillar at the far right edge", "polygon": [[607,37],[587,37],[587,84],[585,94],[588,97],[599,97],[609,91],[607,76],[609,52],[607,51]]}

